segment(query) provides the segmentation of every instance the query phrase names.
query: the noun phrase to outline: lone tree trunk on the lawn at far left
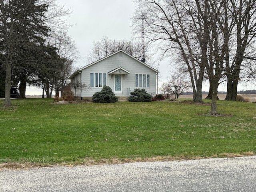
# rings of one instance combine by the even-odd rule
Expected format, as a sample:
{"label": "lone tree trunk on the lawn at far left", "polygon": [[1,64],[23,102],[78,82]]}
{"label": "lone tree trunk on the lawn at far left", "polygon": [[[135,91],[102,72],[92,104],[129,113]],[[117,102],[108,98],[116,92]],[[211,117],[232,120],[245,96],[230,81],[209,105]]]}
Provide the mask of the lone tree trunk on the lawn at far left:
{"label": "lone tree trunk on the lawn at far left", "polygon": [[4,107],[10,107],[11,104],[11,63],[6,61],[6,77],[5,77],[5,95]]}

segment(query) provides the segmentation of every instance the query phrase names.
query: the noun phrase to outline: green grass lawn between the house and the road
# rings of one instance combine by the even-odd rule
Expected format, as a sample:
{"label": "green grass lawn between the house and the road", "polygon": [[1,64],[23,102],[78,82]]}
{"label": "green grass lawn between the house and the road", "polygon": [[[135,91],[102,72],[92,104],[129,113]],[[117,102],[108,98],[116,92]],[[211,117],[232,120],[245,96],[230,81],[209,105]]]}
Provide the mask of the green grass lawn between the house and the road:
{"label": "green grass lawn between the house and the road", "polygon": [[[0,106],[4,100],[0,100]],[[52,104],[16,99],[0,108],[0,163],[83,164],[256,153],[256,103]],[[210,102],[210,100],[205,100]]]}

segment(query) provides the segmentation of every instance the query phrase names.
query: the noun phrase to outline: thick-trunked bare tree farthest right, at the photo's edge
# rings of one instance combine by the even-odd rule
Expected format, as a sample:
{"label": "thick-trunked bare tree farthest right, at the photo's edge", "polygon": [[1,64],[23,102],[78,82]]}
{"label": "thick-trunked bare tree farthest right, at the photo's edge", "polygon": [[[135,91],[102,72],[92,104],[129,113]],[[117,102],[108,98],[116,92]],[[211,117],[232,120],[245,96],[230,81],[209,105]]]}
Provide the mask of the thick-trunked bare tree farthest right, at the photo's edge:
{"label": "thick-trunked bare tree farthest right, at the photo's edge", "polygon": [[[232,0],[228,1],[228,15],[232,15],[233,25],[230,34],[236,34],[235,40],[230,46],[229,61],[227,68],[227,96],[225,100],[237,100],[237,86],[241,78],[255,78],[254,51],[256,32],[256,1],[255,0]],[[226,28],[224,28],[226,30]],[[242,75],[241,76],[241,72]]]}

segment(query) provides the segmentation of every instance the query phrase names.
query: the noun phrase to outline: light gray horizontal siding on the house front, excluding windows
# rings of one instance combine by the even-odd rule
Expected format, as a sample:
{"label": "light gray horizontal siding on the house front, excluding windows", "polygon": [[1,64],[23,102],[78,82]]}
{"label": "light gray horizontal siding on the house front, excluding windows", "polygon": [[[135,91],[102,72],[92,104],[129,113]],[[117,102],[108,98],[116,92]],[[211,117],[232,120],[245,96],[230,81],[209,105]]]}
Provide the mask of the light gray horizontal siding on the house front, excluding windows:
{"label": "light gray horizontal siding on the house front, excluding windows", "polygon": [[[138,62],[134,58],[118,52],[104,60],[101,60],[87,68],[82,70],[82,83],[90,84],[90,73],[106,73],[107,74],[107,86],[110,86],[114,90],[114,74],[110,79],[111,75],[108,74],[111,70],[115,68],[122,67],[130,72],[126,76],[122,74],[122,94],[116,94],[116,96],[127,96],[127,89],[130,88],[131,91],[135,89],[135,74],[150,74],[150,88],[145,88],[146,91],[153,96],[156,94],[156,72],[151,68],[145,66],[144,64]],[[117,72],[118,73],[118,72]],[[80,76],[80,74],[78,74]],[[124,79],[125,76],[125,79]],[[88,90],[83,90],[83,97],[91,97],[94,92],[100,91],[102,88],[90,88]],[[78,96],[78,93],[77,93]]]}

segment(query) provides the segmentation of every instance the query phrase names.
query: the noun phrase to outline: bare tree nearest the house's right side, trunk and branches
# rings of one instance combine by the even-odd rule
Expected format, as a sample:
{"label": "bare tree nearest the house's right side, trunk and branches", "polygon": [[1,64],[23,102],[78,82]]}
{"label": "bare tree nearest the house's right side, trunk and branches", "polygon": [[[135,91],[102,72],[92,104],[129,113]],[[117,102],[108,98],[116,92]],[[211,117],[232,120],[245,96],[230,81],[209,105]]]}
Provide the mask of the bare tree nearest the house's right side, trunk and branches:
{"label": "bare tree nearest the house's right side, trunk and branches", "polygon": [[[204,33],[194,30],[193,18],[189,9],[196,10],[194,4],[187,1],[138,0],[138,9],[134,16],[134,26],[143,18],[145,34],[151,42],[158,43],[162,55],[182,55],[188,68],[193,89],[193,100],[202,101],[202,82],[206,64],[202,51],[198,49],[198,38],[202,46],[207,45]],[[193,10],[193,11],[194,11]],[[140,19],[137,19],[140,18]]]}

